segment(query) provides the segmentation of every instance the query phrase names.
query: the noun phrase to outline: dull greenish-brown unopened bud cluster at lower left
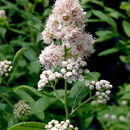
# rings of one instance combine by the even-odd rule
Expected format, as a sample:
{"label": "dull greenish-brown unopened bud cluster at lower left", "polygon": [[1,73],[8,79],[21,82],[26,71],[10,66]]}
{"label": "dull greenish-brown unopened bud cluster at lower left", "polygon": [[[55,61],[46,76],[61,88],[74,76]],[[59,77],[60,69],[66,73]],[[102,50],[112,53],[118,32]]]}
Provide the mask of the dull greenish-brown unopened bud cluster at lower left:
{"label": "dull greenish-brown unopened bud cluster at lower left", "polygon": [[24,118],[30,112],[30,106],[23,100],[20,100],[14,106],[14,115],[18,118]]}

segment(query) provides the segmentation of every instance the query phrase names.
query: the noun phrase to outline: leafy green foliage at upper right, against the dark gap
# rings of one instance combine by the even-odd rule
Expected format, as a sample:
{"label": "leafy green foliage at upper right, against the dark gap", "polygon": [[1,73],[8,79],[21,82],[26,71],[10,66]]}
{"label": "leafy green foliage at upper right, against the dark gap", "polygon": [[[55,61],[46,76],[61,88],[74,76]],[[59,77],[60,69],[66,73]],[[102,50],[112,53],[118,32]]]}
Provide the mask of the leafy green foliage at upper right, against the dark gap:
{"label": "leafy green foliage at upper right, against the dark gap", "polygon": [[[107,7],[104,4],[103,0],[81,0],[83,7],[85,7],[88,11],[88,22],[95,23],[106,23],[106,27],[99,28],[98,31],[95,32],[97,35],[96,44],[101,42],[105,42],[111,39],[116,39],[115,43],[113,41],[113,48],[104,50],[100,52],[99,56],[106,56],[109,54],[122,52],[122,55],[119,56],[120,60],[126,64],[130,64],[130,24],[129,24],[129,10],[130,4],[129,2],[121,2],[120,9],[125,10],[126,13],[122,13],[121,10],[117,11],[113,8]],[[101,7],[101,10],[96,10],[93,8],[91,4],[97,5]],[[93,17],[95,18],[93,19]],[[91,18],[92,17],[92,18]],[[121,23],[117,23],[117,21],[121,21]],[[124,31],[125,34],[119,30],[119,26]]]}

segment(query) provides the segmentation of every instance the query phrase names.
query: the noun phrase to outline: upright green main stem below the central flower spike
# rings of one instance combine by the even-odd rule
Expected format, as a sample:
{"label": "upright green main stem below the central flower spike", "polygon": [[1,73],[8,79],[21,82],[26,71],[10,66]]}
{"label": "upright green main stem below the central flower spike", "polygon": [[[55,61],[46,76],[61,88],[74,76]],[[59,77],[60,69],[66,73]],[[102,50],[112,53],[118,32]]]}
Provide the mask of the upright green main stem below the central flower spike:
{"label": "upright green main stem below the central flower spike", "polygon": [[69,119],[69,110],[68,110],[68,99],[67,99],[67,80],[65,80],[65,96],[64,96],[64,105],[65,105],[65,113],[66,119]]}

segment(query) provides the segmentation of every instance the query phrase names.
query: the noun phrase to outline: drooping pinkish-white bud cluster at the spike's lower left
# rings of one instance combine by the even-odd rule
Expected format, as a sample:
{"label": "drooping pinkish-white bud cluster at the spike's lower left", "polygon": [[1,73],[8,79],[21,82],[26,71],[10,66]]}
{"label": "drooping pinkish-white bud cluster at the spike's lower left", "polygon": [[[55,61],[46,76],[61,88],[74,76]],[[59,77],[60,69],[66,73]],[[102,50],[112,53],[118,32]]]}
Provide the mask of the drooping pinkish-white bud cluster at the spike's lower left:
{"label": "drooping pinkish-white bud cluster at the spike's lower left", "polygon": [[49,83],[49,81],[55,81],[56,79],[62,78],[62,74],[58,72],[53,72],[51,70],[44,70],[40,75],[40,80],[38,82],[38,90],[42,90],[42,88]]}

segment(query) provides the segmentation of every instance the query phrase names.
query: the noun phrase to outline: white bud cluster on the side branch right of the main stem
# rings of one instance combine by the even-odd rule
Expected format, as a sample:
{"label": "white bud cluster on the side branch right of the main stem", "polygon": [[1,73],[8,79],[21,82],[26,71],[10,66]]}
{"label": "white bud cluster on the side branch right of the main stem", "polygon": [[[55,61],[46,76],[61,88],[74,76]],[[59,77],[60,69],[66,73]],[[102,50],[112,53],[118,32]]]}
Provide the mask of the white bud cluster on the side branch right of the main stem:
{"label": "white bud cluster on the side branch right of the main stem", "polygon": [[109,81],[100,80],[100,81],[87,81],[86,87],[90,90],[96,89],[96,96],[98,97],[98,103],[106,103],[110,100],[110,89],[112,89],[112,85]]}

